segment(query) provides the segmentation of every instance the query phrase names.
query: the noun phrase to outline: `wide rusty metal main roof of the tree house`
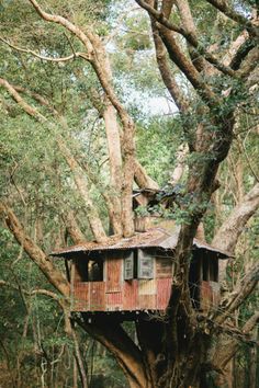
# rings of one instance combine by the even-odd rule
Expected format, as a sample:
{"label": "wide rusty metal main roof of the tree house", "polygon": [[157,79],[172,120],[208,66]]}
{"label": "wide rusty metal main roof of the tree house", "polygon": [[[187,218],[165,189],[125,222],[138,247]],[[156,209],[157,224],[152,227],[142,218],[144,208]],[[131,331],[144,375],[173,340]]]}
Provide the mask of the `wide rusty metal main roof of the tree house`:
{"label": "wide rusty metal main roof of the tree house", "polygon": [[[77,252],[126,250],[134,248],[160,248],[164,250],[173,250],[177,246],[179,232],[180,227],[173,232],[170,232],[164,228],[151,228],[145,232],[135,233],[131,238],[117,239],[111,237],[103,243],[86,242],[78,246],[67,247],[65,249],[52,252],[50,254],[53,256],[66,258],[71,256],[72,253]],[[227,259],[230,256],[227,252],[224,252],[198,239],[193,240],[193,247],[214,252],[218,259]]]}

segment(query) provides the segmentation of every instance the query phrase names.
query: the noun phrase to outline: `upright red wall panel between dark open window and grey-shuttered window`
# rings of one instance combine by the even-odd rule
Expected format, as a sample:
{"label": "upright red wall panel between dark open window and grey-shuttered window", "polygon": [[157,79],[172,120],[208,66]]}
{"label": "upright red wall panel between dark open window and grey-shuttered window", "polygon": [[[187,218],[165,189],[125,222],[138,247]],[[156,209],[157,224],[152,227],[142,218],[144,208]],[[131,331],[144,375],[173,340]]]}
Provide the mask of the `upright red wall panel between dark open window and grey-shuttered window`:
{"label": "upright red wall panel between dark open window and grey-shuttered window", "polygon": [[106,260],[106,293],[121,292],[122,265],[121,259]]}

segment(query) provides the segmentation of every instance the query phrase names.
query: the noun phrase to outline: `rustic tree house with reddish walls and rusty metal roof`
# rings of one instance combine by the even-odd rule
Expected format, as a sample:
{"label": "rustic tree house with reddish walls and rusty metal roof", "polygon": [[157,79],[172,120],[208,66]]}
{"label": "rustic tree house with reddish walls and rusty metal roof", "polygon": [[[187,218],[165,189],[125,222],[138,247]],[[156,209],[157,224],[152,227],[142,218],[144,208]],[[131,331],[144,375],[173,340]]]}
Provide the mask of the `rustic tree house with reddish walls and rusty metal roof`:
{"label": "rustic tree house with reddish walls and rusty metal roof", "polygon": [[[132,238],[89,242],[54,252],[66,261],[71,285],[71,311],[165,311],[173,277],[179,230],[153,228]],[[190,292],[196,309],[216,306],[218,260],[228,254],[194,239]],[[69,265],[68,265],[69,263]]]}

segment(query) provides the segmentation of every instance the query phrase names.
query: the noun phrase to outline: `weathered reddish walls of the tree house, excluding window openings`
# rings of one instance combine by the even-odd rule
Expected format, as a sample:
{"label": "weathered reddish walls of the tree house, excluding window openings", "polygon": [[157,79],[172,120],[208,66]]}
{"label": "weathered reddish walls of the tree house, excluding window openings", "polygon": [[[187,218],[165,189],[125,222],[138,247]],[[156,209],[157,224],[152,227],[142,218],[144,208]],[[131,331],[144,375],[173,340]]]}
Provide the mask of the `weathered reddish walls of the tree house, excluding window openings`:
{"label": "weathered reddish walls of the tree house, excluding window openings", "polygon": [[[172,259],[157,254],[153,279],[124,281],[122,252],[117,254],[117,258],[110,256],[105,261],[103,282],[81,282],[74,269],[71,272],[71,310],[165,310],[171,293],[172,272]],[[199,274],[198,277],[200,278],[200,276]],[[217,306],[218,283],[201,279],[196,286],[200,288],[198,293],[200,300],[196,304],[199,309],[207,311],[212,306]]]}

